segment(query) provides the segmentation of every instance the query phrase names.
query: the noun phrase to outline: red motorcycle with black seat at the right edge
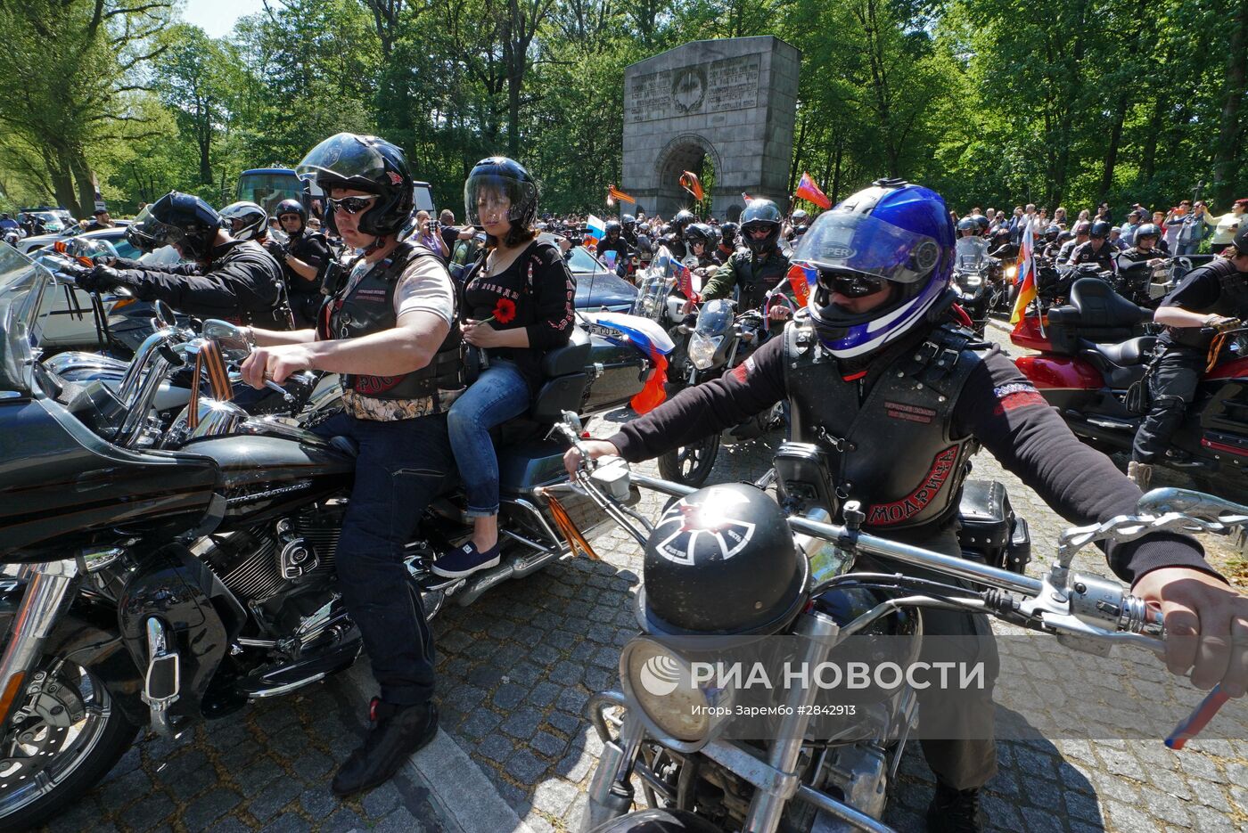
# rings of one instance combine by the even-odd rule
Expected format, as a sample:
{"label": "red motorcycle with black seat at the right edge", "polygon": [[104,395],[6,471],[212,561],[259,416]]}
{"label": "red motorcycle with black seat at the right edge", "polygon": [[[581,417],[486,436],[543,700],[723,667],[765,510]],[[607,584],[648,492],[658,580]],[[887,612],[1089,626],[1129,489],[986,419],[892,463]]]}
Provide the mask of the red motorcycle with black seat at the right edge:
{"label": "red motorcycle with black seat at the right edge", "polygon": [[[1038,354],[1015,359],[1041,395],[1080,439],[1106,454],[1131,451],[1147,413],[1144,373],[1157,337],[1146,334],[1152,311],[1103,281],[1085,278],[1065,306],[1046,318],[1018,322],[1010,340]],[[1219,339],[1213,369],[1174,433],[1172,453],[1158,463],[1216,485],[1218,494],[1248,491],[1248,350],[1244,330]]]}

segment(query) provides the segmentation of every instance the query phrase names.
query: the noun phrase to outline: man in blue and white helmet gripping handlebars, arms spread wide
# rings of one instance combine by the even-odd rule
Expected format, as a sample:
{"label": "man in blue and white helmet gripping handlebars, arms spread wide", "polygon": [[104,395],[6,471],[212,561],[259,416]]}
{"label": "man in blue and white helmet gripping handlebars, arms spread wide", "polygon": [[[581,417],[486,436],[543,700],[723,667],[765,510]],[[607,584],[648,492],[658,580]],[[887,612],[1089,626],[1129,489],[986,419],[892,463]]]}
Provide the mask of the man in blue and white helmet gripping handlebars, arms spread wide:
{"label": "man in blue and white helmet gripping handlebars, arms spread wide", "polygon": [[[585,440],[589,456],[650,459],[789,399],[792,439],[831,455],[831,471],[841,473],[841,481],[829,485],[862,503],[875,535],[960,555],[951,521],[961,473],[977,444],[1036,484],[1072,521],[1134,511],[1139,491],[1071,434],[1005,354],[942,323],[952,302],[953,223],[940,195],[899,180],[877,181],[824,212],[795,257],[817,269],[819,282],[782,338],[765,343],[738,370],[685,388],[614,436]],[[958,358],[937,364],[945,350]],[[937,367],[943,369],[926,375]],[[915,414],[925,419],[916,421]],[[935,466],[942,455],[947,468]],[[1062,464],[1053,465],[1055,459]],[[569,450],[564,463],[574,470],[580,451]],[[932,480],[937,469],[947,474]],[[1108,560],[1134,582],[1137,595],[1161,605],[1167,627],[1201,631],[1223,645],[1232,627],[1248,632],[1248,600],[1213,572],[1188,539],[1158,534],[1114,544]],[[902,565],[882,570],[927,576]],[[995,643],[986,638],[982,615],[924,609],[921,617],[926,635],[980,637],[961,643],[995,667]],[[1201,687],[1221,680],[1233,695],[1244,691],[1243,656],[1236,653],[1232,662],[1229,648],[1198,655],[1194,641],[1171,640],[1167,660],[1176,673],[1194,661],[1192,676]],[[991,691],[919,693],[921,710],[941,710],[967,729],[961,738],[980,738],[922,742],[937,776],[927,829],[983,829],[981,788],[996,773]]]}

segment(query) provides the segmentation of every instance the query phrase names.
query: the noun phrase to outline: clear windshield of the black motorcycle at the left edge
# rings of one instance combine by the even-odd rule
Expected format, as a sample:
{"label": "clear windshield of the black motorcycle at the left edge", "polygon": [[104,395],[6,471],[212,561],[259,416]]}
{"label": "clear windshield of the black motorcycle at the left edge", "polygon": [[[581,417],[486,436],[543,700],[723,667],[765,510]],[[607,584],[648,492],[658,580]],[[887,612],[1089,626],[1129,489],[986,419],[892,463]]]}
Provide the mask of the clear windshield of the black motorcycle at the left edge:
{"label": "clear windshield of the black motorcycle at the left edge", "polygon": [[11,246],[0,246],[0,397],[31,390],[36,315],[51,273]]}

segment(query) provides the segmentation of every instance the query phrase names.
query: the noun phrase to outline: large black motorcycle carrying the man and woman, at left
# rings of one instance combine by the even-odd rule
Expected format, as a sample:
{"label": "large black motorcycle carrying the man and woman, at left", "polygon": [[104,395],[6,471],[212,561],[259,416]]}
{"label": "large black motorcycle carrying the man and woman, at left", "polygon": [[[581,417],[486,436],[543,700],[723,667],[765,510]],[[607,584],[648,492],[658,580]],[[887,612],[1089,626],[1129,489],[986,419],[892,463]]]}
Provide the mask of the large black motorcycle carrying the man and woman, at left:
{"label": "large black motorcycle carrying the man and woman, at left", "polygon": [[[225,365],[248,347],[223,322],[190,342],[175,327],[152,333],[117,388],[60,378],[32,348],[52,284],[0,251],[4,829],[65,809],[140,726],[226,715],[342,671],[361,651],[334,579],[349,444],[231,403]],[[564,412],[618,407],[641,388],[645,358],[599,375],[598,349],[575,330],[547,354],[530,412],[500,428],[498,567],[432,579],[439,544],[470,532],[454,484],[422,518],[409,589],[429,616],[542,569],[603,522],[594,498],[568,484],[563,440],[548,436]],[[150,418],[152,400],[187,362],[201,384],[165,428]],[[635,500],[626,483],[610,485]]]}

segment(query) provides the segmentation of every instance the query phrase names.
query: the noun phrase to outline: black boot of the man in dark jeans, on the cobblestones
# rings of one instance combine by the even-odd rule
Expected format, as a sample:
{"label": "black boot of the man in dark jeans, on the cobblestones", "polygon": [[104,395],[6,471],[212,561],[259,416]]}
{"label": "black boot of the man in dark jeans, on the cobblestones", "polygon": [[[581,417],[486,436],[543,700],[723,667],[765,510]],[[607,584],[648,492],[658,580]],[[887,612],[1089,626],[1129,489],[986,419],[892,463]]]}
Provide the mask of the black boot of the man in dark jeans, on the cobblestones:
{"label": "black boot of the man in dark jeans, on the cobblestones", "polygon": [[412,753],[438,733],[438,707],[432,702],[393,706],[373,697],[368,717],[372,726],[364,744],[333,777],[331,789],[339,798],[386,783]]}

